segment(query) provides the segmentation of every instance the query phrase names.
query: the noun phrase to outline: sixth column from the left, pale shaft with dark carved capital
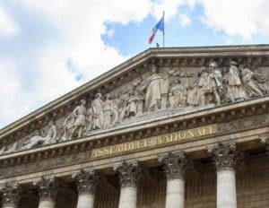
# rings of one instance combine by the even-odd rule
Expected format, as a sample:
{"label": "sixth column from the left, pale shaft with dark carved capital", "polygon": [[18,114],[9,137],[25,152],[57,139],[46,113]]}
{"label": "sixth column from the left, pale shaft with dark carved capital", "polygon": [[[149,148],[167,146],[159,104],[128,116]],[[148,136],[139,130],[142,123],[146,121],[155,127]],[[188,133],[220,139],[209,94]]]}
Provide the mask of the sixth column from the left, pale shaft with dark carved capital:
{"label": "sixth column from the left, pale shaft with dark carved capital", "polygon": [[212,153],[217,171],[217,208],[236,208],[235,167],[239,160],[236,143],[219,143]]}

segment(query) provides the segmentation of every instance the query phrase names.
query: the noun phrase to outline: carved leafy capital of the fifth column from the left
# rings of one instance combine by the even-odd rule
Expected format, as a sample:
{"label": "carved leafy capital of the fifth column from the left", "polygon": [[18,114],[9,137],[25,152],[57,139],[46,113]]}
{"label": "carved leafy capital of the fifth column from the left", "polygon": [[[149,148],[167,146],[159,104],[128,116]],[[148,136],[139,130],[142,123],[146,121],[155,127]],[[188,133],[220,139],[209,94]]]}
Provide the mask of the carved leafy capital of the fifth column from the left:
{"label": "carved leafy capital of the fifth column from the left", "polygon": [[167,178],[185,178],[187,159],[184,152],[169,152],[159,156]]}

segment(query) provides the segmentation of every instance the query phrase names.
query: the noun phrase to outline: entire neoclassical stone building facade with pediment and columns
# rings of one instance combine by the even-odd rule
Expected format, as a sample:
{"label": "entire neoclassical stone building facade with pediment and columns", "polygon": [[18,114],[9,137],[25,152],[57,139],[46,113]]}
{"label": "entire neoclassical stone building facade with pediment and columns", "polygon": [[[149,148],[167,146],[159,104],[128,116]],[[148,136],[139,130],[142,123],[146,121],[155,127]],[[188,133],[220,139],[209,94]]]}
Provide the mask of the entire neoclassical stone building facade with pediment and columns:
{"label": "entire neoclassical stone building facade with pediment and columns", "polygon": [[4,208],[269,207],[269,46],[150,48],[0,130]]}

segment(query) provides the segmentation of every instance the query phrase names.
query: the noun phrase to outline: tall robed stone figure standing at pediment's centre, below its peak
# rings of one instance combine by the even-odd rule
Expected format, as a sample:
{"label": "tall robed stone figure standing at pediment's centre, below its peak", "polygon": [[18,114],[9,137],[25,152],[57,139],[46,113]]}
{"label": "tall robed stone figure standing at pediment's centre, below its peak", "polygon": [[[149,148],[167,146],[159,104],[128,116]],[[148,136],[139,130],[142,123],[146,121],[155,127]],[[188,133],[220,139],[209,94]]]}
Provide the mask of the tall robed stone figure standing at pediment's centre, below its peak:
{"label": "tall robed stone figure standing at pediment's centre, below its peak", "polygon": [[161,81],[163,78],[157,73],[156,65],[152,65],[152,75],[145,80],[145,111],[161,108]]}

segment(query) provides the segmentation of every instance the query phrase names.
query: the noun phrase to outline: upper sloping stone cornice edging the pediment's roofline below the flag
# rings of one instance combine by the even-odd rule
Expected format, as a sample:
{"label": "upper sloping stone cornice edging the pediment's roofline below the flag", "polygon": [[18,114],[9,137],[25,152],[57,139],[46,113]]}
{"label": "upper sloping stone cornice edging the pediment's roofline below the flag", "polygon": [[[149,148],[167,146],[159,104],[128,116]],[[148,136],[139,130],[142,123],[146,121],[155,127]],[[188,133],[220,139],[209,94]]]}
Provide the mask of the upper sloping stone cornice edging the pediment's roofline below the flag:
{"label": "upper sloping stone cornice edging the pediment's roofline below the flag", "polygon": [[[163,66],[201,66],[214,59],[224,65],[230,58],[253,63],[253,65],[269,65],[269,45],[250,46],[217,46],[191,48],[149,48],[127,60],[107,73],[83,84],[64,96],[49,102],[26,117],[0,130],[0,142],[11,143],[18,137],[30,134],[34,130],[46,126],[49,119],[63,117],[78,100],[93,97],[96,91],[111,91],[125,82],[132,74],[142,74],[152,59],[158,59]],[[246,60],[245,60],[246,59]]]}

